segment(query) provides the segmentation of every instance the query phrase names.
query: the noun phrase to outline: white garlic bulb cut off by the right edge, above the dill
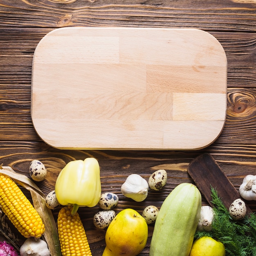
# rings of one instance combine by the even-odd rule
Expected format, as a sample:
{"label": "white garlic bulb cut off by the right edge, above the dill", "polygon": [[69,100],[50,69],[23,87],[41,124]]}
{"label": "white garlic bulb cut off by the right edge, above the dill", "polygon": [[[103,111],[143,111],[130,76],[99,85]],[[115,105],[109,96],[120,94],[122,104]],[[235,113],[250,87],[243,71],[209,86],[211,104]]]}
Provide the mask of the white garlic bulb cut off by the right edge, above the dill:
{"label": "white garlic bulb cut off by the right edge, above the dill", "polygon": [[247,175],[240,185],[239,193],[245,200],[256,200],[256,175]]}

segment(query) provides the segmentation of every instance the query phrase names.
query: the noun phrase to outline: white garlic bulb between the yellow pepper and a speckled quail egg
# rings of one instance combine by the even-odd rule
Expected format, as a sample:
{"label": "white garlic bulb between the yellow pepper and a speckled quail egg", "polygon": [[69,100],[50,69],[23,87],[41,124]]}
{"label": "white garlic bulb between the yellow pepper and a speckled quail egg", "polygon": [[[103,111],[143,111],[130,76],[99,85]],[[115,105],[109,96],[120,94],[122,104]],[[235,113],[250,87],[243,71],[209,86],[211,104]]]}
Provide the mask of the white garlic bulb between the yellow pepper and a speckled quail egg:
{"label": "white garlic bulb between the yellow pepper and a speckled quail egg", "polygon": [[121,186],[124,196],[141,202],[148,196],[148,182],[138,174],[131,174]]}

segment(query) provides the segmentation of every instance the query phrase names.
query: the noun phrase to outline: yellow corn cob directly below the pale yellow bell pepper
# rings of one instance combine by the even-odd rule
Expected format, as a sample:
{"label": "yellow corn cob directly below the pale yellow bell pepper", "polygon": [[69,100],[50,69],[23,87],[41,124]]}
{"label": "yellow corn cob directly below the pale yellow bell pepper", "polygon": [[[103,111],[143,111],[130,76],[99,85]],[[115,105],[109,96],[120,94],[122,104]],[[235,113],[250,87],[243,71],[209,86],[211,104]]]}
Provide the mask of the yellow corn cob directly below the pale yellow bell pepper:
{"label": "yellow corn cob directly below the pale yellow bell pepper", "polygon": [[85,229],[79,214],[71,215],[72,206],[61,208],[58,213],[58,236],[62,256],[92,255]]}

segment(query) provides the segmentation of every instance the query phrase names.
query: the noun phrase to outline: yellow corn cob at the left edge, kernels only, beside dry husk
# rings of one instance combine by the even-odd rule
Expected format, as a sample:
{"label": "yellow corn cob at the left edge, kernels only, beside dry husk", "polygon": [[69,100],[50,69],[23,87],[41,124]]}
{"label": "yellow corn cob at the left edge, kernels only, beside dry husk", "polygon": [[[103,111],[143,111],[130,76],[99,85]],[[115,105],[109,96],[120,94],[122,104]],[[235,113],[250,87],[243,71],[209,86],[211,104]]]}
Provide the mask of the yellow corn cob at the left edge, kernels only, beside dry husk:
{"label": "yellow corn cob at the left edge, kernels only, beside dry husk", "polygon": [[40,238],[45,226],[38,212],[18,185],[5,174],[0,174],[0,205],[11,223],[25,238]]}

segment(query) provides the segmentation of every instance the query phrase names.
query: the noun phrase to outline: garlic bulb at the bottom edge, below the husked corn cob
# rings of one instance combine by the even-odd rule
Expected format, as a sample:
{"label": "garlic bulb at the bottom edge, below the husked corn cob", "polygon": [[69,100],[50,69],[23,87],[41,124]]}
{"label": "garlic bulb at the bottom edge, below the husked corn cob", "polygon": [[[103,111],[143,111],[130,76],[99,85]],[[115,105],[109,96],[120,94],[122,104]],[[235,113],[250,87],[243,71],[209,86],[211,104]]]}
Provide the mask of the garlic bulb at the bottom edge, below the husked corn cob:
{"label": "garlic bulb at the bottom edge, below the husked corn cob", "polygon": [[27,238],[20,247],[20,256],[51,256],[47,243],[42,239]]}

